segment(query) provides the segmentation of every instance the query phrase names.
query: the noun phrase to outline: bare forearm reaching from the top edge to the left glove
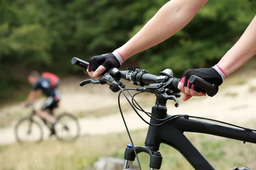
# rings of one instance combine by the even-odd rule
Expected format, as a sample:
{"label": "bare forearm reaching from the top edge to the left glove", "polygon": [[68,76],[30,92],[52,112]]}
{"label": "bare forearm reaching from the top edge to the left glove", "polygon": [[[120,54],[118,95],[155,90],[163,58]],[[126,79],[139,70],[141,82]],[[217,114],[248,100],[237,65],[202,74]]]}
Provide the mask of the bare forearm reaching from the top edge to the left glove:
{"label": "bare forearm reaching from the top edge to the left glove", "polygon": [[208,0],[171,0],[145,26],[117,51],[126,60],[168,39],[184,26]]}

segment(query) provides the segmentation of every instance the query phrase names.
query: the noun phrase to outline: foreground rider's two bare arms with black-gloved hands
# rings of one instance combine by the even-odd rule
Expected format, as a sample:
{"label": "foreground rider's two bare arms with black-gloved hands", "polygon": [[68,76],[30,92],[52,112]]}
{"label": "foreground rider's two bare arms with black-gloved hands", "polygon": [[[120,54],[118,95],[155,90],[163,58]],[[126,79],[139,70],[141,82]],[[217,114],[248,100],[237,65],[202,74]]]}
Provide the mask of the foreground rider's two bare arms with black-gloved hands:
{"label": "foreground rider's two bare arms with black-gloved hands", "polygon": [[[98,79],[105,71],[120,67],[131,56],[168,39],[184,26],[207,3],[208,0],[170,0],[127,43],[112,53],[93,56],[89,59],[87,72]],[[192,96],[206,95],[204,90],[189,84],[191,75],[214,82],[220,86],[224,79],[256,55],[256,16],[237,43],[211,68],[186,70],[178,89],[183,92],[183,101]],[[180,61],[182,62],[182,61]]]}

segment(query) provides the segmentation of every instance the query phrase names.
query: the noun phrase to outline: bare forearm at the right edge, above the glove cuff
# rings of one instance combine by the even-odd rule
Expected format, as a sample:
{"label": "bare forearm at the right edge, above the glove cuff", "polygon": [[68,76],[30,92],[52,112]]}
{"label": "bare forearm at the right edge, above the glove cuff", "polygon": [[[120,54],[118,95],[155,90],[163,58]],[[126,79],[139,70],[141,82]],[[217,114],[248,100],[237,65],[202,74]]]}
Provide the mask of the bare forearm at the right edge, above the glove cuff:
{"label": "bare forearm at the right edge, above the glove cuff", "polygon": [[228,76],[256,55],[256,16],[237,43],[218,63]]}

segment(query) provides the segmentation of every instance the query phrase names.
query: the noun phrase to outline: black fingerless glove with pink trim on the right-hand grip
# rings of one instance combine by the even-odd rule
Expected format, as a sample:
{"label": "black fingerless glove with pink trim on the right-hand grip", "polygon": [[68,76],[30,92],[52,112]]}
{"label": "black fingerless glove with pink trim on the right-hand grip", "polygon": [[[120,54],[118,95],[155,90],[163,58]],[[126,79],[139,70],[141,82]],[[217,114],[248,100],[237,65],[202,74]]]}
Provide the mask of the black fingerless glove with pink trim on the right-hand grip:
{"label": "black fingerless glove with pink trim on the right-hand grip", "polygon": [[205,91],[200,87],[194,86],[189,83],[189,78],[192,75],[195,75],[199,78],[204,79],[205,81],[208,81],[209,83],[216,84],[218,86],[220,86],[223,83],[223,80],[226,78],[224,72],[216,65],[209,69],[188,69],[183,73],[180,82],[189,89],[194,89],[196,92]]}

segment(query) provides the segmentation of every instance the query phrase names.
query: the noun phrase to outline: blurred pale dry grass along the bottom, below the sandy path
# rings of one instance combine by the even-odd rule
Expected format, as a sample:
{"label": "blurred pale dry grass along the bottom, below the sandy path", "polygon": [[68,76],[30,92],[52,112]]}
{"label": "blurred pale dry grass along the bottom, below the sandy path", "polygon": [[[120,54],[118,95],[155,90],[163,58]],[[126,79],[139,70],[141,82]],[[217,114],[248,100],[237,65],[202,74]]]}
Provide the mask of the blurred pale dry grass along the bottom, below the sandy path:
{"label": "blurred pale dry grass along the bottom, below the sandy path", "polygon": [[[145,130],[134,131],[131,135],[135,145],[143,146]],[[229,170],[245,165],[252,170],[256,167],[256,147],[253,144],[203,134],[190,133],[186,136],[217,170]],[[130,144],[128,135],[119,133],[85,135],[71,144],[49,140],[41,144],[1,146],[0,170],[87,170],[101,156],[123,158],[127,144]],[[177,150],[161,144],[160,152],[163,156],[161,170],[193,170]],[[140,153],[139,159],[142,169],[149,169],[149,156]]]}

